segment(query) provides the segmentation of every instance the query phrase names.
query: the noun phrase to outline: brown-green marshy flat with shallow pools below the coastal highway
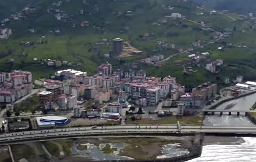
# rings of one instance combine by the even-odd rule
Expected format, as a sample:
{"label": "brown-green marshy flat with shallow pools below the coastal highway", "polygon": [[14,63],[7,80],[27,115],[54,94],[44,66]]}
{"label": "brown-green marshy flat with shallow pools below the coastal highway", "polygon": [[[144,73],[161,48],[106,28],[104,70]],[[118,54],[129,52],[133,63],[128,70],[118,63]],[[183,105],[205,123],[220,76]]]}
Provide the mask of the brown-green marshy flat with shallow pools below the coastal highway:
{"label": "brown-green marshy flat with shallow pools below the coastal highway", "polygon": [[[11,145],[15,161],[111,161],[165,159],[189,154],[193,136],[108,137],[38,141]],[[24,152],[26,148],[26,153]],[[27,154],[30,152],[30,154]]]}

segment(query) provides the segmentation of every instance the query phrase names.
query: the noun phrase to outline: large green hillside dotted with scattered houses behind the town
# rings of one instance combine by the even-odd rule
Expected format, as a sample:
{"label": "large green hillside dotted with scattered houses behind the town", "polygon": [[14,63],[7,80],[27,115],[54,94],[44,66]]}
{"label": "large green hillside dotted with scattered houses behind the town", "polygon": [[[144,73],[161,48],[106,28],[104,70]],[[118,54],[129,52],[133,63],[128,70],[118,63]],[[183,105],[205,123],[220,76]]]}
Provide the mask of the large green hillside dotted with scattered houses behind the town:
{"label": "large green hillside dotted with scattered houses behind the town", "polygon": [[[13,34],[0,43],[0,71],[29,70],[34,72],[34,79],[37,79],[48,77],[54,71],[64,68],[74,68],[92,74],[102,61],[130,68],[131,60],[141,57],[126,58],[126,64],[119,62],[113,55],[111,58],[104,57],[104,54],[111,52],[113,38],[130,41],[133,47],[145,52],[143,57],[156,54],[169,57],[177,53],[178,49],[192,47],[195,41],[212,40],[213,32],[201,29],[199,23],[204,21],[214,30],[232,32],[229,38],[221,39],[203,49],[195,49],[195,52],[209,51],[209,59],[222,58],[225,67],[221,73],[211,74],[205,68],[195,68],[197,74],[184,76],[183,67],[176,64],[179,60],[188,61],[187,55],[172,58],[160,68],[139,64],[140,67],[148,69],[149,75],[171,75],[177,77],[180,83],[189,86],[208,80],[221,82],[219,78],[226,76],[234,78],[236,75],[243,75],[245,79],[256,79],[256,40],[253,36],[256,34],[256,27],[248,20],[239,20],[238,14],[211,15],[208,9],[197,8],[193,2],[175,0],[63,0],[59,6],[56,5],[58,2],[30,0],[29,6],[34,6],[36,10],[26,13],[24,20],[12,20],[6,24],[6,27],[13,30]],[[181,13],[186,19],[165,17],[172,13]],[[58,14],[61,15],[61,20],[56,19]],[[246,21],[248,23],[245,23]],[[83,22],[86,23],[81,25]],[[36,32],[27,31],[32,29]],[[145,37],[145,34],[151,36]],[[104,39],[108,40],[107,45],[99,45]],[[175,49],[159,47],[159,41],[169,45],[175,44]],[[21,42],[34,44],[24,46],[20,45]],[[241,44],[249,48],[216,50],[226,43]],[[9,63],[10,59],[15,62]],[[38,61],[41,59],[68,61],[70,64],[59,68],[48,67]]]}

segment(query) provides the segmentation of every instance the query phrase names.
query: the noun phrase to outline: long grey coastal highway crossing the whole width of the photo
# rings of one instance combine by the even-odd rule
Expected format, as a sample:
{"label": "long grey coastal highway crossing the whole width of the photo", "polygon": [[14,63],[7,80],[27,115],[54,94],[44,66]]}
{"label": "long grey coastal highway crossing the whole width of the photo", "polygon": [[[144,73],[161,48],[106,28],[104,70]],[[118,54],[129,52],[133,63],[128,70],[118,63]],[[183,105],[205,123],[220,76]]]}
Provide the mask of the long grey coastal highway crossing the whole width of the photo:
{"label": "long grey coastal highway crossing the whole width of the photo", "polygon": [[[152,133],[174,133],[179,132],[176,126],[106,126],[106,127],[77,127],[77,128],[56,128],[51,130],[36,130],[12,132],[0,134],[0,143],[15,141],[31,141],[42,138],[59,138],[70,136],[85,135],[104,135],[104,134],[152,134]],[[232,126],[181,126],[182,133],[237,133],[237,134],[256,134],[256,126],[232,127]]]}

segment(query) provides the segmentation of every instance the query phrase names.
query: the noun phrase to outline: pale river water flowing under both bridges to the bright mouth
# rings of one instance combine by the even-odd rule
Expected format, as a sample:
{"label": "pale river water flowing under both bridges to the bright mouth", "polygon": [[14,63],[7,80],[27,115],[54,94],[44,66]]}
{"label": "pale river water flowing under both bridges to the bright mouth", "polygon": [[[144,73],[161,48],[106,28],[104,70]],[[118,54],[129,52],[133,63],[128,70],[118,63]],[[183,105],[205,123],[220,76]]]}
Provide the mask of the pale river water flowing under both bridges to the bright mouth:
{"label": "pale river water flowing under both bridges to the bright mouth", "polygon": [[[225,109],[229,104],[236,104],[233,110],[248,110],[256,101],[256,94],[228,101],[216,109]],[[207,126],[250,126],[251,121],[245,116],[209,115],[203,123]],[[240,145],[206,145],[203,146],[201,157],[189,162],[247,162],[256,161],[256,138],[244,137],[244,143]]]}

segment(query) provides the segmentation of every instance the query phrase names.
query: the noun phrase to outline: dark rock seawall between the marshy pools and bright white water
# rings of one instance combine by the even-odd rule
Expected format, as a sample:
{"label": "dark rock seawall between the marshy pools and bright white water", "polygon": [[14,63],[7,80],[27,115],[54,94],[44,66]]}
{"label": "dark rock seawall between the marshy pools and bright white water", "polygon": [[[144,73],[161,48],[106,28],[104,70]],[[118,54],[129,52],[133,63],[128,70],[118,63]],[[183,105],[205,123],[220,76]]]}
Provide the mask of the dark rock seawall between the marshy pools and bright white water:
{"label": "dark rock seawall between the marshy pools and bright white water", "polygon": [[201,156],[202,153],[202,141],[204,140],[204,134],[195,134],[192,147],[188,149],[189,153],[182,156],[170,157],[165,159],[145,159],[145,160],[111,160],[109,162],[183,162],[191,159],[195,159]]}

